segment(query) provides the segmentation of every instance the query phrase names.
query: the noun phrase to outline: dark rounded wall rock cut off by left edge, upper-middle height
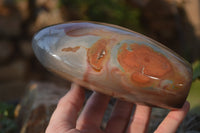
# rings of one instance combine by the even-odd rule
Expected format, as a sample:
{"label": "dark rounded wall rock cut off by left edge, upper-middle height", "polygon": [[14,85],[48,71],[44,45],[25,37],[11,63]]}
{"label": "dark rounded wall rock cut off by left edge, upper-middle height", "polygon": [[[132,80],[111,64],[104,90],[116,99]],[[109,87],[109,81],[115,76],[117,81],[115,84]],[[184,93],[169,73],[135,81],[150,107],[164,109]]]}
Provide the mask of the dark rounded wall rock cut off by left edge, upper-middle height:
{"label": "dark rounded wall rock cut off by left edge, upper-middle height", "polygon": [[0,64],[9,61],[14,51],[14,46],[10,41],[0,41]]}

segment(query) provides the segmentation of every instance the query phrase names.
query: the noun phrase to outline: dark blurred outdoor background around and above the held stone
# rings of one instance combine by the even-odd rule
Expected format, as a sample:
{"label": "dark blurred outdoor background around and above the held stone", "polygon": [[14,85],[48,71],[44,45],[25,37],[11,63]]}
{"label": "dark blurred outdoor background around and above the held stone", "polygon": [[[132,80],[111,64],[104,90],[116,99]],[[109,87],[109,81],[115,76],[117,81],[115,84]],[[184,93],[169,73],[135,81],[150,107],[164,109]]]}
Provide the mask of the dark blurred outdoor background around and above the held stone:
{"label": "dark blurred outdoor background around and above the held stone", "polygon": [[0,0],[0,133],[16,128],[10,118],[35,81],[69,87],[41,66],[31,40],[41,28],[74,20],[132,29],[184,57],[194,69],[191,112],[200,113],[200,0]]}

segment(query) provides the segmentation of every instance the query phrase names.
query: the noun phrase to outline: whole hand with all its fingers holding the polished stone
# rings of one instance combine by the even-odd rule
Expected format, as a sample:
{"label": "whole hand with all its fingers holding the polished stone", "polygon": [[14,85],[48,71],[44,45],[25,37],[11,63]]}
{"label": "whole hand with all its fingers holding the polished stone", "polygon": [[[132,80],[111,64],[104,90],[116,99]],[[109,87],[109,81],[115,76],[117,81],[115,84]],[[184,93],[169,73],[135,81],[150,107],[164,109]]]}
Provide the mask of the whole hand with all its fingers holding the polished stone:
{"label": "whole hand with all its fingers holding the polished stone", "polygon": [[[118,100],[105,130],[101,130],[100,125],[110,97],[94,92],[83,107],[84,100],[84,89],[72,84],[70,91],[59,101],[46,133],[147,132],[151,107],[136,105],[131,118],[133,104]],[[175,133],[189,107],[189,103],[185,102],[181,109],[171,110],[155,133]]]}

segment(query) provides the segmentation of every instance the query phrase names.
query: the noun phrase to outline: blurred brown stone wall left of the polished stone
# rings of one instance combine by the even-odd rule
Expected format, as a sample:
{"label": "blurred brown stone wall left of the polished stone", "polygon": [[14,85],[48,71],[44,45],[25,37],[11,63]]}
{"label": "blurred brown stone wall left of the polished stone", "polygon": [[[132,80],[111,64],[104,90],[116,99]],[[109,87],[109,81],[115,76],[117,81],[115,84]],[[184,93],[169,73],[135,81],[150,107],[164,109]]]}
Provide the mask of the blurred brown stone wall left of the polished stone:
{"label": "blurred brown stone wall left of the polished stone", "polygon": [[18,101],[30,80],[60,82],[40,65],[31,46],[40,28],[65,21],[60,14],[54,0],[0,1],[0,101]]}

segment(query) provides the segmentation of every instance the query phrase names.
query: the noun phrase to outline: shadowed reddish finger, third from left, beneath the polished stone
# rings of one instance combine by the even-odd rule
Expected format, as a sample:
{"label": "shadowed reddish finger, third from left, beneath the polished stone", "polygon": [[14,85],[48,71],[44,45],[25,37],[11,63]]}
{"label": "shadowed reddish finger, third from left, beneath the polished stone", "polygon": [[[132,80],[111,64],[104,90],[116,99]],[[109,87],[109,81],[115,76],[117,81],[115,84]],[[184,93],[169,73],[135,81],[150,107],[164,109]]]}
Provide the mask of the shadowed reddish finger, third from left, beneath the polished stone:
{"label": "shadowed reddish finger, third from left, beneath the polished stone", "polygon": [[131,116],[132,108],[133,104],[118,100],[105,131],[107,133],[124,133]]}

